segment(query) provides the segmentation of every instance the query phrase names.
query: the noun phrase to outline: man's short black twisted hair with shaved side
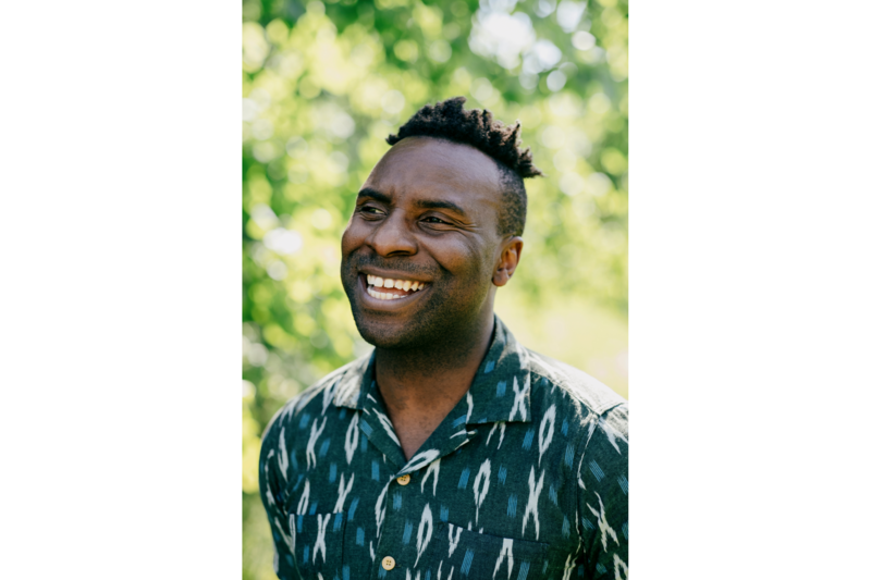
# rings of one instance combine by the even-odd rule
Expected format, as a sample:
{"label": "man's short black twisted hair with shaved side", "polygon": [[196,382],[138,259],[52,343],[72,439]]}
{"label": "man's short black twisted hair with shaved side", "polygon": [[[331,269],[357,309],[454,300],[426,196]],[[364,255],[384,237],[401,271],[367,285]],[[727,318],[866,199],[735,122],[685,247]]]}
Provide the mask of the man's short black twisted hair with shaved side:
{"label": "man's short black twisted hair with shaved side", "polygon": [[526,187],[524,178],[543,175],[532,164],[532,152],[520,149],[520,122],[505,125],[484,109],[463,109],[465,97],[454,97],[434,106],[425,104],[388,137],[396,145],[406,137],[438,137],[470,145],[490,156],[499,166],[502,181],[502,207],[499,214],[501,235],[522,235],[526,225]]}

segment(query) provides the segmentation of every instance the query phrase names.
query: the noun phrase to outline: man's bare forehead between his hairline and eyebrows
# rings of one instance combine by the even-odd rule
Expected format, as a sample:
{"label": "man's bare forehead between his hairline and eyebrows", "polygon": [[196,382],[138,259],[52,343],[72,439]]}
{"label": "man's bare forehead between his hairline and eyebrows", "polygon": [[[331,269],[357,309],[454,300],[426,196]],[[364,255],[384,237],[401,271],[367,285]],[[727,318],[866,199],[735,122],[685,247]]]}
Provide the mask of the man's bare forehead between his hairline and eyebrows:
{"label": "man's bare forehead between his hairline and eyebrows", "polygon": [[501,195],[493,159],[469,145],[433,137],[406,137],[394,145],[366,186],[391,196],[450,197],[464,200],[463,206],[494,206]]}

